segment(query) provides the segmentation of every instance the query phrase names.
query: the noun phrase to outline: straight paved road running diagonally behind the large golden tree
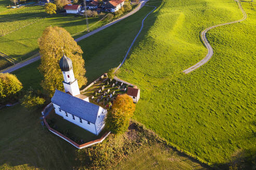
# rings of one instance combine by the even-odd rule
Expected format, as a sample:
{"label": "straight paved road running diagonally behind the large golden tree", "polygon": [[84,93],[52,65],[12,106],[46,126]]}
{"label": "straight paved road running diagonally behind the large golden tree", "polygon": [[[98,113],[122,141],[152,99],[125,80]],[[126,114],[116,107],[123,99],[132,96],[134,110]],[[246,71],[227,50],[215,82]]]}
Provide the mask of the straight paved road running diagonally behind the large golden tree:
{"label": "straight paved road running diagonally behind the large golden tree", "polygon": [[[94,31],[92,31],[92,32],[89,32],[88,34],[85,34],[85,35],[83,35],[83,36],[81,36],[81,37],[79,37],[79,38],[76,38],[75,41],[78,42],[78,41],[80,41],[80,40],[82,40],[82,39],[84,39],[84,38],[87,38],[87,37],[89,37],[89,36],[91,36],[91,35],[93,35],[93,34],[99,32],[99,31],[104,30],[104,29],[106,29],[107,27],[109,27],[109,26],[111,26],[111,25],[113,25],[113,24],[116,24],[117,22],[119,22],[119,21],[121,21],[121,20],[123,20],[123,19],[125,19],[125,18],[127,18],[127,17],[129,17],[129,16],[131,16],[131,15],[133,15],[135,12],[137,12],[139,9],[141,9],[141,8],[145,5],[146,2],[147,2],[147,1],[140,1],[138,7],[135,8],[133,11],[127,13],[126,15],[124,15],[123,17],[120,17],[120,18],[117,19],[117,20],[114,20],[114,21],[112,21],[112,22],[110,22],[110,23],[108,23],[108,24],[106,24],[106,25],[104,25],[104,26],[99,27],[98,29],[96,29],[96,30],[94,30]],[[37,60],[40,60],[40,58],[41,58],[41,56],[38,55],[38,56],[36,56],[35,58],[32,58],[32,59],[27,60],[27,61],[25,61],[25,62],[17,63],[17,64],[14,65],[13,67],[10,67],[10,68],[4,70],[2,73],[11,73],[11,72],[14,72],[15,70],[17,70],[17,69],[19,69],[19,68],[21,68],[21,67],[24,67],[24,66],[26,66],[26,65],[29,65],[29,64],[31,64],[31,63],[37,61]]]}

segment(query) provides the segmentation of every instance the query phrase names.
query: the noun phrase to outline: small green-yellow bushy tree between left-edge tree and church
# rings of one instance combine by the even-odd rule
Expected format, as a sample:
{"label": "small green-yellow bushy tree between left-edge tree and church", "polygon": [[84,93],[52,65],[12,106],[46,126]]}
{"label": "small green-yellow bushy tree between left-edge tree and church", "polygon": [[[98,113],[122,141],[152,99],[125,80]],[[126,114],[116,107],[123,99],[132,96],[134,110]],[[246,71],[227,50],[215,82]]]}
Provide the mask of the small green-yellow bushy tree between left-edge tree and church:
{"label": "small green-yellow bushy tree between left-edge tree and church", "polygon": [[45,99],[39,96],[36,96],[33,92],[33,89],[30,88],[27,94],[20,100],[21,105],[27,108],[41,107],[45,103]]}

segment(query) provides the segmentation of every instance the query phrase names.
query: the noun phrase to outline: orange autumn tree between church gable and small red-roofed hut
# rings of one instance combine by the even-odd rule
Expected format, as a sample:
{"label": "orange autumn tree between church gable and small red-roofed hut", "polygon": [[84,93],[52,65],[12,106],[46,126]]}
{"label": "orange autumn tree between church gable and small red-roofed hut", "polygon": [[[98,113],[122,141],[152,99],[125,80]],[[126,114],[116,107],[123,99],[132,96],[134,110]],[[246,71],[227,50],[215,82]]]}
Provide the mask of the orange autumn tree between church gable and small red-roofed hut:
{"label": "orange autumn tree between church gable and small red-roofed hut", "polygon": [[108,112],[107,128],[114,134],[124,133],[129,126],[134,111],[135,104],[132,98],[127,94],[118,95],[112,105],[112,111]]}

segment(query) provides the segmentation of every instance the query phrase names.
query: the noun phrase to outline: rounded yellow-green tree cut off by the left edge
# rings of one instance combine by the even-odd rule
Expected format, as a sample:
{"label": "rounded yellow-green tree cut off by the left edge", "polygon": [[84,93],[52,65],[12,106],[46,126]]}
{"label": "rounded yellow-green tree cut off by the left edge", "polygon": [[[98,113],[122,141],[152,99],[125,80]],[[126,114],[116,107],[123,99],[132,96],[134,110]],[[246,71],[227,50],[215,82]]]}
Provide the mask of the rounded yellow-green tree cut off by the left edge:
{"label": "rounded yellow-green tree cut off by the left edge", "polygon": [[15,75],[0,73],[0,100],[6,101],[22,89],[21,82]]}

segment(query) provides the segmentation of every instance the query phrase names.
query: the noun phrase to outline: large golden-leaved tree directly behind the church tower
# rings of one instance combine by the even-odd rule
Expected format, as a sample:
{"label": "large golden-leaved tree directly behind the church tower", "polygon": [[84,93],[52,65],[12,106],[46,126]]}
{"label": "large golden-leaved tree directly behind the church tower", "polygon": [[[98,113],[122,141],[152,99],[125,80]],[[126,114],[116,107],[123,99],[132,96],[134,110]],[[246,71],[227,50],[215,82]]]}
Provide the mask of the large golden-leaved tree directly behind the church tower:
{"label": "large golden-leaved tree directly behind the church tower", "polygon": [[63,76],[59,67],[63,53],[72,60],[73,72],[78,79],[79,88],[87,83],[84,77],[86,70],[82,58],[83,51],[65,29],[58,26],[46,27],[38,43],[41,54],[39,70],[43,75],[41,85],[50,97],[53,96],[55,89],[64,90]]}

